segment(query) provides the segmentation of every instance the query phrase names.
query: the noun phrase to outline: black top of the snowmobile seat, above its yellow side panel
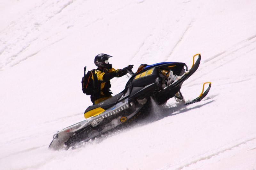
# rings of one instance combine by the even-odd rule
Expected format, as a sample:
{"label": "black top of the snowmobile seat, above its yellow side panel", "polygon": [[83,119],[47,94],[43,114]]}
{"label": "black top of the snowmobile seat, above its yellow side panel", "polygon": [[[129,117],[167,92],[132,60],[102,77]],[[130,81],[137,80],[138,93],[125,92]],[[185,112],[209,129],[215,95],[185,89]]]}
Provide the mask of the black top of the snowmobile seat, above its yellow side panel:
{"label": "black top of the snowmobile seat, above its yellow side panel", "polygon": [[89,106],[84,113],[90,111],[90,110],[93,110],[93,109],[96,109],[96,108],[99,108],[101,107],[102,109],[104,110],[107,110],[108,108],[110,108],[111,106],[114,106],[117,101],[121,98],[121,96],[123,96],[123,92],[121,93],[118,93],[117,95],[107,99],[107,100],[104,100],[98,104],[95,104],[95,105],[92,105],[92,106]]}

